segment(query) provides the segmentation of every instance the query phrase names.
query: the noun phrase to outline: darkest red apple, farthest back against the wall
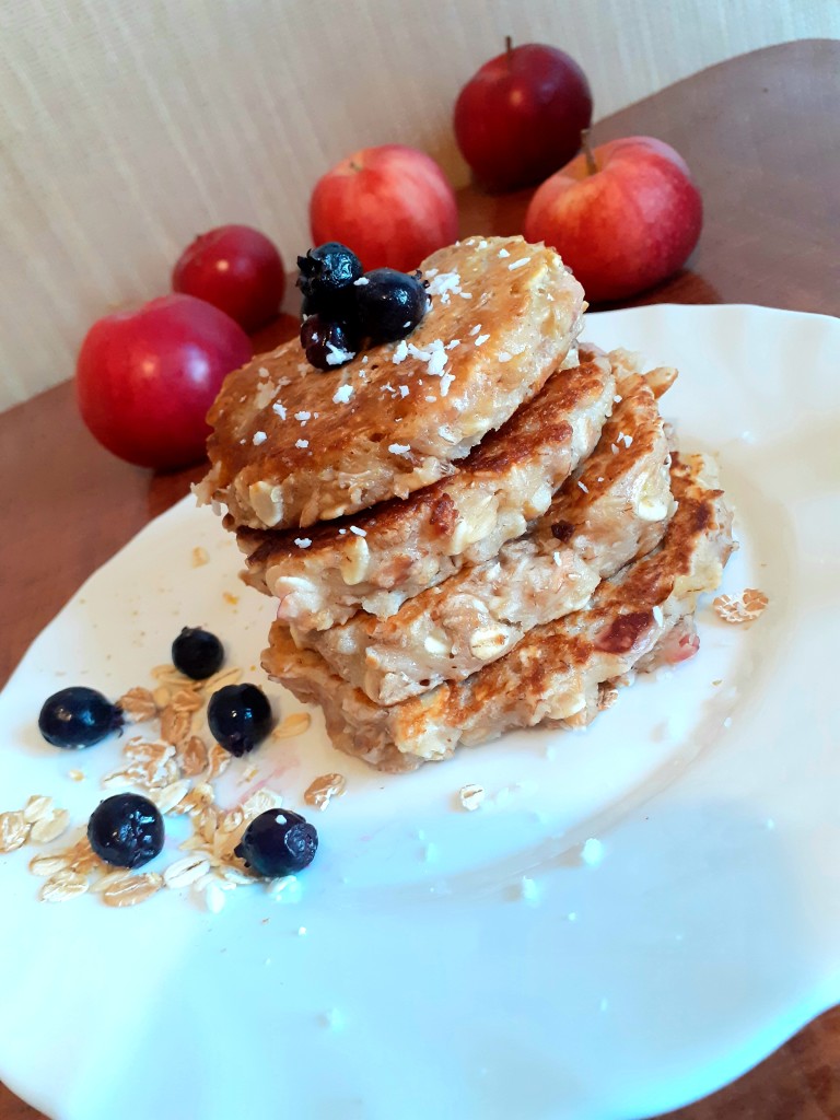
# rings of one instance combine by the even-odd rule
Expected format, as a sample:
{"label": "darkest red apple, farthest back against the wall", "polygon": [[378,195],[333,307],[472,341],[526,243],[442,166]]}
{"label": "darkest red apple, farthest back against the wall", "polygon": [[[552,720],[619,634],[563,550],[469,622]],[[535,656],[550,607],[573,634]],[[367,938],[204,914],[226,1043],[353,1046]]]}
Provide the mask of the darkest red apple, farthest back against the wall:
{"label": "darkest red apple, farthest back against the wall", "polygon": [[455,136],[493,190],[539,183],[580,148],[592,119],[586,74],[557,47],[528,43],[491,58],[455,103]]}

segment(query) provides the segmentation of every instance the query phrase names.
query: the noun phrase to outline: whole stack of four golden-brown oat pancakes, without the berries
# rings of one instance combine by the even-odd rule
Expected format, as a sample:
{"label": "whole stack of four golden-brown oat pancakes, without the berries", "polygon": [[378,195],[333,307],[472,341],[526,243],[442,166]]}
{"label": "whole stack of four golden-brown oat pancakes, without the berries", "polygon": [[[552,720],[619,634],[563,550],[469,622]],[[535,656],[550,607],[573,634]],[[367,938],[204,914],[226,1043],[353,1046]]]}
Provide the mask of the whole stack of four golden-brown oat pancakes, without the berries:
{"label": "whole stack of four golden-brown oat pancakes, without the berries", "polygon": [[660,417],[675,372],[578,345],[557,253],[470,239],[421,270],[409,338],[328,373],[292,342],[231,374],[198,487],[278,600],[269,675],[388,771],[585,726],[697,650],[732,548],[710,464]]}

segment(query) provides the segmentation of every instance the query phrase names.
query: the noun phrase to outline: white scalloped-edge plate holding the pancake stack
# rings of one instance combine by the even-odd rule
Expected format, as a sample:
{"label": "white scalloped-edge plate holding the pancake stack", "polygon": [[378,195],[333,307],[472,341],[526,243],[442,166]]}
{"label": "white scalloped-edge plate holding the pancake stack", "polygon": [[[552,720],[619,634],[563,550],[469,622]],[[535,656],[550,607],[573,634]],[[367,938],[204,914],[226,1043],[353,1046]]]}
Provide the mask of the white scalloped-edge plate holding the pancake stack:
{"label": "white scalloped-edge plate holding the pancake stack", "polygon": [[[665,411],[683,447],[718,452],[737,508],[725,589],[765,590],[764,616],[727,627],[707,606],[700,655],[588,734],[511,735],[400,777],[334,753],[319,718],[263,748],[291,805],[316,774],[348,778],[315,814],[293,903],[242,888],[216,916],[172,893],[50,906],[31,849],[0,858],[0,1075],[22,1096],[62,1120],[635,1120],[840,997],[840,325],[661,306],[591,316],[587,336],[679,365]],[[185,624],[258,664],[271,604],[236,570],[187,500],[82,588],[0,698],[2,808],[47,792],[82,823],[116,764],[116,741],[40,741],[56,688],[143,683]],[[473,782],[507,793],[467,814],[454,795]]]}

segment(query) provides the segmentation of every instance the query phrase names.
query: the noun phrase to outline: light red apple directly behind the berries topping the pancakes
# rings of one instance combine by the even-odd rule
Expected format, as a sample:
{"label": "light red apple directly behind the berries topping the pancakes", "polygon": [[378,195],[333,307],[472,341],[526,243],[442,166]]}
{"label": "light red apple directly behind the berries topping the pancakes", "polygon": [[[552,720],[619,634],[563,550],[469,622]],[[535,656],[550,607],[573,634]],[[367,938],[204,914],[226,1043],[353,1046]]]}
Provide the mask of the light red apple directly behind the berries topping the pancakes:
{"label": "light red apple directly behind the berries topping the pancakes", "polygon": [[340,241],[365,271],[409,272],[456,240],[458,207],[430,156],[386,143],[354,152],[318,179],[309,223],[316,245]]}

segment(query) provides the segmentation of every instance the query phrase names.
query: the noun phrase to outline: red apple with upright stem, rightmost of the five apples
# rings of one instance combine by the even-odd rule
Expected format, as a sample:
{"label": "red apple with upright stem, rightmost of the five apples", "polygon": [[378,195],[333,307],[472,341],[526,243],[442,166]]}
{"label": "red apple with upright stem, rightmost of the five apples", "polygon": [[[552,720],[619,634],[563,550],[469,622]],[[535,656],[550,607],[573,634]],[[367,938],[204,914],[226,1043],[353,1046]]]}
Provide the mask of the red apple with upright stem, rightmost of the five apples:
{"label": "red apple with upright stem, rightmost of the five apples", "polygon": [[659,283],[691,254],[703,220],[685,160],[651,137],[588,149],[539,188],[529,241],[553,245],[592,301]]}

